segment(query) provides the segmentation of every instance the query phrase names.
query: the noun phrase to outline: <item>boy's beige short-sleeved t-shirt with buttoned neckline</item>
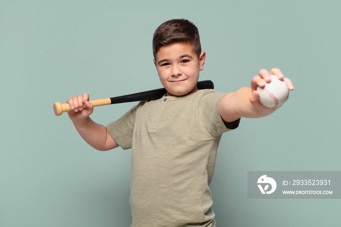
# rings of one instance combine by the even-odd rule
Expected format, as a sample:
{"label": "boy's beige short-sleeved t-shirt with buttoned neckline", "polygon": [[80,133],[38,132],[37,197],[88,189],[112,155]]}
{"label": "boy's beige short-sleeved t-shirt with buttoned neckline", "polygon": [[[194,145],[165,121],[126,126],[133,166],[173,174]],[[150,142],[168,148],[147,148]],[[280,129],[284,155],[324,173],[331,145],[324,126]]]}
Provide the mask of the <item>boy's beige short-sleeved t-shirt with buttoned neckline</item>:
{"label": "boy's beige short-sleeved t-shirt with buttoned neckline", "polygon": [[218,144],[229,129],[219,114],[224,96],[199,90],[143,101],[107,126],[132,148],[133,227],[215,226],[212,179]]}

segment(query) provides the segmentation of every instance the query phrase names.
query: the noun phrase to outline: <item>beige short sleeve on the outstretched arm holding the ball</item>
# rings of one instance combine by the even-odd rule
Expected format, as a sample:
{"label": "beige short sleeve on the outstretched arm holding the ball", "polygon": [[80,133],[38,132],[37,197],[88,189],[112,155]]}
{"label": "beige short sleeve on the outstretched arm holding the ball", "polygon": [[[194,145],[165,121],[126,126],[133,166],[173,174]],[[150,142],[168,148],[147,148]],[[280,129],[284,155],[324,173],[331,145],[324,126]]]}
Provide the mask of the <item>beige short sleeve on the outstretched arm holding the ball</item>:
{"label": "beige short sleeve on the outstretched arm holding the ball", "polygon": [[206,131],[213,137],[219,136],[223,132],[236,129],[240,119],[225,124],[219,113],[219,102],[225,93],[214,90],[203,90],[199,103],[201,121]]}

